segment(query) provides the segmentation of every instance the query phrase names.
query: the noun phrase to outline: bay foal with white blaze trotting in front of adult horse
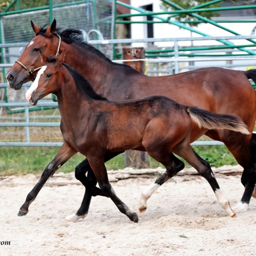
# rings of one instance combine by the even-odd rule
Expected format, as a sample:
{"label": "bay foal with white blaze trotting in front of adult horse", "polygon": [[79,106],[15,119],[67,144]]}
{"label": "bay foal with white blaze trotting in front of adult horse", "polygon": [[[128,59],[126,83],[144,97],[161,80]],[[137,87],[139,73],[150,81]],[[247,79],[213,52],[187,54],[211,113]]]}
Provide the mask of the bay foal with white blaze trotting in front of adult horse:
{"label": "bay foal with white blaze trotting in front of adult horse", "polygon": [[116,196],[104,165],[107,152],[134,148],[147,151],[148,155],[166,167],[166,172],[142,194],[141,211],[146,209],[146,200],[153,192],[184,168],[184,163],[174,156],[175,153],[195,167],[209,182],[227,215],[235,215],[228,200],[222,195],[209,163],[191,147],[190,134],[191,120],[202,129],[214,127],[249,134],[239,118],[181,105],[164,96],[109,101],[96,94],[83,76],[62,62],[65,52],[50,60],[42,54],[41,58],[45,66],[40,69],[26,92],[26,100],[36,105],[39,99],[50,93],[57,96],[64,143],[28,194],[19,210],[19,216],[27,214],[29,205],[48,178],[70,157],[80,152],[87,157],[100,187],[92,186],[89,181],[85,184],[86,189],[94,190],[95,195],[110,197],[123,214],[138,222],[137,214]]}

